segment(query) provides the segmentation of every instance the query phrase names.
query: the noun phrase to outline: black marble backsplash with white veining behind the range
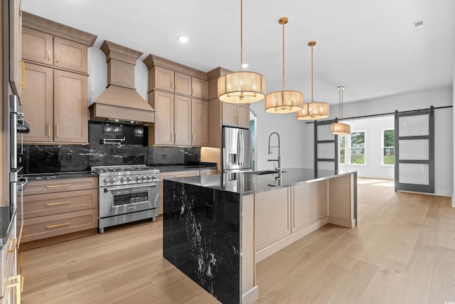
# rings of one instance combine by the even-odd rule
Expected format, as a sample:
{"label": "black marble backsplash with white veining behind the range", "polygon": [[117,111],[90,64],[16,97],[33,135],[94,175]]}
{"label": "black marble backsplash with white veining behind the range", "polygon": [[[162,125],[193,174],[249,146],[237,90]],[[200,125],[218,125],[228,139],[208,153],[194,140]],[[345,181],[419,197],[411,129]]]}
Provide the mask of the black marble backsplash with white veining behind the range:
{"label": "black marble backsplash with white veining behind the range", "polygon": [[[24,145],[18,155],[18,165],[23,167],[21,174],[89,171],[90,167],[147,164],[162,166],[173,164],[194,164],[200,162],[200,147],[147,147],[140,138],[132,138],[129,129],[141,126],[124,125],[125,145],[103,145],[100,140],[103,125],[89,124],[89,145]],[[134,130],[133,130],[134,132]],[[106,133],[106,132],[105,132]],[[144,134],[144,133],[142,133]],[[146,132],[145,132],[146,134]],[[116,135],[107,135],[115,138]],[[123,137],[123,135],[121,135]],[[18,151],[21,151],[19,148]]]}

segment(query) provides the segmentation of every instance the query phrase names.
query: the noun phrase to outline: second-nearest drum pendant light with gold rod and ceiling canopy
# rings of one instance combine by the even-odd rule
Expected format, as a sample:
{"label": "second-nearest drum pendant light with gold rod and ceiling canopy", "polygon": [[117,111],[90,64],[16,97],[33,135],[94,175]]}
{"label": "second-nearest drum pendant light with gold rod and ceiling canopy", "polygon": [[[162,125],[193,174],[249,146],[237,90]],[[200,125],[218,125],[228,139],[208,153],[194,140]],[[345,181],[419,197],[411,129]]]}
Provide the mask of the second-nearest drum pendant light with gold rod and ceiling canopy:
{"label": "second-nearest drum pendant light with gold rod and ceiling canopy", "polygon": [[288,23],[287,17],[279,19],[283,26],[283,90],[265,96],[265,112],[285,114],[302,110],[304,95],[298,91],[284,90],[284,24]]}

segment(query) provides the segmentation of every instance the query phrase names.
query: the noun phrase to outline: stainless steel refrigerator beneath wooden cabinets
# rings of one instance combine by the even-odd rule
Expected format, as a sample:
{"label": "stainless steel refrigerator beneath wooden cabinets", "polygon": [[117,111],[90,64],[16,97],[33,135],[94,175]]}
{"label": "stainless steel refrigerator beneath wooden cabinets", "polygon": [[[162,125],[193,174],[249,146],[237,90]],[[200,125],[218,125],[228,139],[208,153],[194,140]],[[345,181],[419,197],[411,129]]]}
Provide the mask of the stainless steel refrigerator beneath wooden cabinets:
{"label": "stainless steel refrigerator beneath wooden cabinets", "polygon": [[247,129],[223,127],[223,173],[252,171],[252,135]]}

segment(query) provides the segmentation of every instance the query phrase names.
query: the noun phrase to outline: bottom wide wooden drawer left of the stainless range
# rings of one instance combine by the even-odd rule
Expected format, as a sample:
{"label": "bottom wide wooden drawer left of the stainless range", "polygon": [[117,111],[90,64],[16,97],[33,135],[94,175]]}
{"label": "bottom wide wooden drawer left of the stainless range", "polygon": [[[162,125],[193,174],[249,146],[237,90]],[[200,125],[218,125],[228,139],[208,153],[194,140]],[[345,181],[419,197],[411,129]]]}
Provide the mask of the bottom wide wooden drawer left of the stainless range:
{"label": "bottom wide wooden drawer left of the stainless range", "polygon": [[[18,226],[21,226],[21,221],[18,221]],[[96,228],[97,226],[97,209],[24,219],[21,242],[26,243],[51,236],[70,234],[76,231]]]}

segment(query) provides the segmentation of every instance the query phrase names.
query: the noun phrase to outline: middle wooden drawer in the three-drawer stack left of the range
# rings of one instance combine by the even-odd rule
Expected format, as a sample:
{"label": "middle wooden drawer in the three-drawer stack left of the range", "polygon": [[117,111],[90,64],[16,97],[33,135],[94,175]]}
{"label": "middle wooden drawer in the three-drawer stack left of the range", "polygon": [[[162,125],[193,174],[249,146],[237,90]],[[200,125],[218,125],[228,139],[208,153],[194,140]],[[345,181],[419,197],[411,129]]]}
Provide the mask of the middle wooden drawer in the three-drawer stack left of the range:
{"label": "middle wooden drawer in the three-drawer stack left of the range", "polygon": [[[23,218],[95,209],[97,206],[98,189],[26,195],[23,196]],[[18,204],[18,214],[21,214],[21,204]]]}

